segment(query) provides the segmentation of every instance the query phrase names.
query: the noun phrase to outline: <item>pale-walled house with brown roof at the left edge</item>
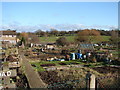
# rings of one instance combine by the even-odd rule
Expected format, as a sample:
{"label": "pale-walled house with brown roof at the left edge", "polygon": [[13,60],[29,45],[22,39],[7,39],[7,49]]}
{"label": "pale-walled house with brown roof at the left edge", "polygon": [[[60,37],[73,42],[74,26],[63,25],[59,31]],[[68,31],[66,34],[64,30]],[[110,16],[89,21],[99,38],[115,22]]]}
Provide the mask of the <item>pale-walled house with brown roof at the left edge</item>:
{"label": "pale-walled house with brown roof at the left edge", "polygon": [[16,44],[17,38],[16,38],[16,31],[15,30],[6,30],[6,31],[0,31],[0,41],[7,44]]}

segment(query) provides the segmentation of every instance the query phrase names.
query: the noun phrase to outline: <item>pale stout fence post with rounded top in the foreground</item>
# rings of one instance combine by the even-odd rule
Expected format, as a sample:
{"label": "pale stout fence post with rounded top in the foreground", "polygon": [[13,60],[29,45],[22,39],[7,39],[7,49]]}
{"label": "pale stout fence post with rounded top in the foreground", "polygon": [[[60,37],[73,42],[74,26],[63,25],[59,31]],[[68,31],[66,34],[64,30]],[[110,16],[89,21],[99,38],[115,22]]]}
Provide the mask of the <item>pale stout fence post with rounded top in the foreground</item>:
{"label": "pale stout fence post with rounded top in the foreground", "polygon": [[86,90],[95,90],[95,75],[91,74],[90,71],[86,74]]}

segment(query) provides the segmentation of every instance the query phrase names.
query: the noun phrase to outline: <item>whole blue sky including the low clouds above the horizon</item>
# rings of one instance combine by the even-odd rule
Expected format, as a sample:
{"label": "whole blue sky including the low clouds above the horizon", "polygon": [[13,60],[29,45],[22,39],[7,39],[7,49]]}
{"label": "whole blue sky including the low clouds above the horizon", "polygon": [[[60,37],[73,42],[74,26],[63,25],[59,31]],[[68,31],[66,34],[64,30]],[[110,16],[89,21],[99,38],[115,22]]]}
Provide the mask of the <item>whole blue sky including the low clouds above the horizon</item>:
{"label": "whole blue sky including the low clouds above the horizon", "polygon": [[3,2],[2,29],[77,30],[118,27],[117,2]]}

